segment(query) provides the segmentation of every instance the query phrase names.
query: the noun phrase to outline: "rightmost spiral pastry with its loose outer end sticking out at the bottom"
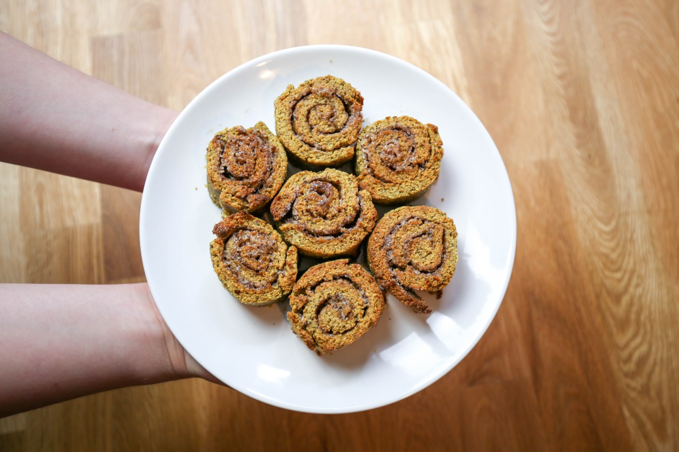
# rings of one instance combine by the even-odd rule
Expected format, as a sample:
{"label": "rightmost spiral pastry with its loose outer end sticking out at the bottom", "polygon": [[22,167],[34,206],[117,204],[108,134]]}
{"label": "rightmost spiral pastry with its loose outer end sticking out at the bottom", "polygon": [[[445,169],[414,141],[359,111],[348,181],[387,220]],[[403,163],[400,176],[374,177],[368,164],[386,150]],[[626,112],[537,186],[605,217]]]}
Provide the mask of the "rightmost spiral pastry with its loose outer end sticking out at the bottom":
{"label": "rightmost spiral pastry with its loose outer end sticking out at the bottom", "polygon": [[455,272],[458,232],[445,213],[426,205],[387,212],[368,240],[368,264],[378,283],[415,312],[429,314],[414,290],[440,291]]}

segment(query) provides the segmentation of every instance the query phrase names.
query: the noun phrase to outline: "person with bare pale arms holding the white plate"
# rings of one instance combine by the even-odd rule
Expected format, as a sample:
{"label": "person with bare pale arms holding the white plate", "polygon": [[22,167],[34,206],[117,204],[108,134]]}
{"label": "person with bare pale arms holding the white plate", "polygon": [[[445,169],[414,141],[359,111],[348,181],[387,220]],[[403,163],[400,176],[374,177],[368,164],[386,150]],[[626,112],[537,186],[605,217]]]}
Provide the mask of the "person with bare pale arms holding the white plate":
{"label": "person with bare pale arms holding the white plate", "polygon": [[[141,191],[177,112],[0,33],[0,161]],[[146,284],[0,284],[0,417],[94,392],[219,381],[168,329]]]}

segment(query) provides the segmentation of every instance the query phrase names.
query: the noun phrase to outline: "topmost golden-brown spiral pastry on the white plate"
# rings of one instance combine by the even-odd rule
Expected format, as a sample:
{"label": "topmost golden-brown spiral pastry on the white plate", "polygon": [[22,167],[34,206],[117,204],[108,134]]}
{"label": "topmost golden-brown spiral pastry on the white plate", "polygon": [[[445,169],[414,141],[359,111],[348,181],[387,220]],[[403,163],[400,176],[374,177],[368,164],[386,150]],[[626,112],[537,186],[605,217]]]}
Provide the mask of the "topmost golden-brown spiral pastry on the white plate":
{"label": "topmost golden-brown spiral pastry on the white plate", "polygon": [[363,97],[331,75],[283,91],[274,102],[276,133],[302,165],[337,166],[354,157],[363,122]]}

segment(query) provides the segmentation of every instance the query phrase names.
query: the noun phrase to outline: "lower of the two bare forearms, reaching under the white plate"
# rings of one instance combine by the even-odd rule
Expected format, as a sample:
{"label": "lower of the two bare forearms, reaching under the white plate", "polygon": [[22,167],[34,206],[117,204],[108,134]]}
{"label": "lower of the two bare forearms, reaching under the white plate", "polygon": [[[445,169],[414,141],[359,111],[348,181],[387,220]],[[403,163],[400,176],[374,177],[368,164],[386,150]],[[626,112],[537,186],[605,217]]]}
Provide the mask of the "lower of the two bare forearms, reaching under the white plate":
{"label": "lower of the two bare forearms, reaching under the white plate", "polygon": [[3,284],[0,312],[0,417],[202,371],[145,284]]}

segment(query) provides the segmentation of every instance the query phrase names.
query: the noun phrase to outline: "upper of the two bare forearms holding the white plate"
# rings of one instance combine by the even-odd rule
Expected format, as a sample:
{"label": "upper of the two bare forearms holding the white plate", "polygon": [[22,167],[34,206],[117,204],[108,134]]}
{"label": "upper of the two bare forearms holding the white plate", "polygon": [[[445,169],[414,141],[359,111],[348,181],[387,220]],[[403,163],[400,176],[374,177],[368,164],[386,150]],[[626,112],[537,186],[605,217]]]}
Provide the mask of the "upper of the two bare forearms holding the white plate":
{"label": "upper of the two bare forearms holding the white plate", "polygon": [[0,160],[142,190],[177,113],[0,33]]}

